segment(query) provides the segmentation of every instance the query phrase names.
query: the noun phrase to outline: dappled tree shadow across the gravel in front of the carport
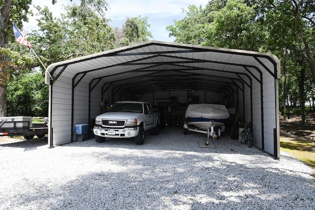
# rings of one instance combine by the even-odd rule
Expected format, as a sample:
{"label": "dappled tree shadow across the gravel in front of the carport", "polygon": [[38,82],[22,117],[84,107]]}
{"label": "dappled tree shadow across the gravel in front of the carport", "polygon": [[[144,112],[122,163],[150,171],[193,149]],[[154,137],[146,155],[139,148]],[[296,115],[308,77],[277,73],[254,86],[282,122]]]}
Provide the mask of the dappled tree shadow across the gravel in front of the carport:
{"label": "dappled tree shadow across the gravel in front of the carport", "polygon": [[[65,184],[36,185],[35,194],[22,193],[16,202],[24,207],[39,203],[50,209],[104,210],[314,207],[310,197],[315,187],[308,179],[266,167],[268,161],[261,156],[243,162],[191,152],[143,152],[94,151],[85,157],[89,161],[78,164],[79,169],[90,167],[91,173]],[[72,161],[80,160],[81,154],[72,155]],[[299,183],[297,193],[292,193],[292,183]]]}

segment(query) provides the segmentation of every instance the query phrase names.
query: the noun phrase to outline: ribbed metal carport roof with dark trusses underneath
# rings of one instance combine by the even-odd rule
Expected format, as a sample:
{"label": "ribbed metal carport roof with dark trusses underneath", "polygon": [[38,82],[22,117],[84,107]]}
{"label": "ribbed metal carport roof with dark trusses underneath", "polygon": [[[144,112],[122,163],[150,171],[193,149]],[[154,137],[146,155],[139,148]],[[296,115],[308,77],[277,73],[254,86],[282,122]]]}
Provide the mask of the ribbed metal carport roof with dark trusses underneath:
{"label": "ribbed metal carport roof with dark trusses underneath", "polygon": [[[76,78],[86,74],[94,80],[106,77],[113,87],[135,95],[172,89],[222,92],[241,75],[251,74],[257,64],[263,65],[264,59],[279,62],[266,53],[148,41],[53,63],[48,71],[56,81],[65,71]],[[276,68],[266,69],[279,77]]]}

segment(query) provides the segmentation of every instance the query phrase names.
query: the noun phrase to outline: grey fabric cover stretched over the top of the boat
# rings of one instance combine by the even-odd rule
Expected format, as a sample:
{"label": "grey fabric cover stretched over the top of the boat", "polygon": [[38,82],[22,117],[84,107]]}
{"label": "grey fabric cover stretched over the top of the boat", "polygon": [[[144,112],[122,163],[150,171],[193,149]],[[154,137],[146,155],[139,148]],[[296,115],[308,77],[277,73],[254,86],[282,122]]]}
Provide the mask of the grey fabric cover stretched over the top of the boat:
{"label": "grey fabric cover stretched over the top of the boat", "polygon": [[227,119],[230,115],[224,105],[189,104],[185,118]]}

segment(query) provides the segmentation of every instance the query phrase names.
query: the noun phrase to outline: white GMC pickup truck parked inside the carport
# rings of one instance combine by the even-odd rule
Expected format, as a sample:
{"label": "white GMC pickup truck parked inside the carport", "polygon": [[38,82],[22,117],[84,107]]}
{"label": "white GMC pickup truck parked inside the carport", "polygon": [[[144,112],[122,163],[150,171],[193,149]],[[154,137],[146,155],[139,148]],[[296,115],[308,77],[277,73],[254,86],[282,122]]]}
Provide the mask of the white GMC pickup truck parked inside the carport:
{"label": "white GMC pickup truck parked inside the carport", "polygon": [[154,112],[150,103],[142,101],[119,101],[109,112],[95,118],[93,132],[95,141],[102,143],[105,138],[132,138],[142,145],[145,133],[159,132],[159,114]]}

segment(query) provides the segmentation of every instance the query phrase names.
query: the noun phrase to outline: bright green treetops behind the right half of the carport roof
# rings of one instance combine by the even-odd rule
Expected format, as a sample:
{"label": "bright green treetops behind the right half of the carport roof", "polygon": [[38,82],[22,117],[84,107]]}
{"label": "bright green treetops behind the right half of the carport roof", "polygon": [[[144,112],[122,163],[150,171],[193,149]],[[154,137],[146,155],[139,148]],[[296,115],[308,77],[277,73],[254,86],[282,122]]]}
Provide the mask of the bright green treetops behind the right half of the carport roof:
{"label": "bright green treetops behind the right half of the carport roof", "polygon": [[186,17],[167,30],[175,42],[258,51],[266,34],[256,22],[255,6],[243,0],[209,1],[204,9],[189,5]]}

